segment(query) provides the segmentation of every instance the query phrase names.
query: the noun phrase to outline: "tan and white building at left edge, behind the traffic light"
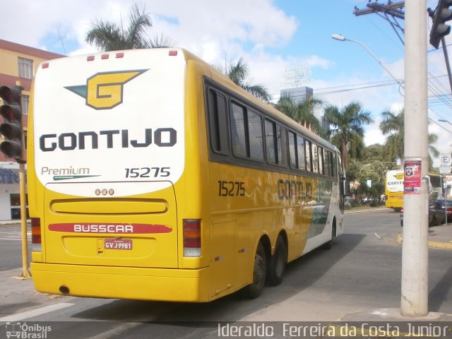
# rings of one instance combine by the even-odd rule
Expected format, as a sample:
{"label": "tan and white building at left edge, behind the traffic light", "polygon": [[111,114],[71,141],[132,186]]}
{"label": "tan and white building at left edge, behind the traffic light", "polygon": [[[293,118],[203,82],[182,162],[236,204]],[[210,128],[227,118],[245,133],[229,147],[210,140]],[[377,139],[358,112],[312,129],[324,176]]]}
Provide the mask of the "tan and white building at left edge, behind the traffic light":
{"label": "tan and white building at left edge, behind the traffic light", "polygon": [[[0,40],[0,85],[21,85],[22,123],[27,140],[28,107],[33,75],[42,61],[57,59],[64,55],[42,49]],[[0,105],[3,105],[0,99]],[[0,117],[0,123],[3,118]],[[0,136],[0,142],[3,141]],[[26,143],[25,143],[26,144]],[[8,159],[0,152],[0,220],[20,219],[19,172],[14,159]]]}

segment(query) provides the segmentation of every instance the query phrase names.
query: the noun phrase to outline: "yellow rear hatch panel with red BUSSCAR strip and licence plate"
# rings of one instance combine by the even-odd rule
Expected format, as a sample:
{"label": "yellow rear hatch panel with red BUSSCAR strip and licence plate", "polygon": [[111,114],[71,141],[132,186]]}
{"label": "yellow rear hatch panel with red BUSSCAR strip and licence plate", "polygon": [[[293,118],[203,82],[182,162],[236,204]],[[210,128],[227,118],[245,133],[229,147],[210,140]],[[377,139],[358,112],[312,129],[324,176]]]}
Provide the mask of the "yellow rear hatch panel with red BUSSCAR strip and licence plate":
{"label": "yellow rear hatch panel with red BUSSCAR strip and licence plate", "polygon": [[[133,184],[146,185],[151,193],[102,195],[102,187],[120,194]],[[61,188],[55,185],[61,184],[47,184],[44,194],[47,263],[177,268],[176,198],[170,182],[72,184],[87,194],[100,187],[99,197],[85,198],[56,193]]]}

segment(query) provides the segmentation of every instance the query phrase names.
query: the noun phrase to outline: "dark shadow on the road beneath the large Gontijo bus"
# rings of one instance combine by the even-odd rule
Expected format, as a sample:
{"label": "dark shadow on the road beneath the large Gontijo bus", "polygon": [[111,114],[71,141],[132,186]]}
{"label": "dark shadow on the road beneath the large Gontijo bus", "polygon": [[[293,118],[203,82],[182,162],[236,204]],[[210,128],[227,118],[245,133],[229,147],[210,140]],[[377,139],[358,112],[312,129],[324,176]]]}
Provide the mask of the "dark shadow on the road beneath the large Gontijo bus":
{"label": "dark shadow on the road beneath the large Gontijo bus", "polygon": [[362,239],[362,234],[343,234],[335,239],[331,250],[316,249],[292,261],[287,265],[283,283],[278,287],[266,287],[257,299],[242,299],[239,293],[234,293],[203,304],[114,300],[73,317],[86,321],[237,321],[268,305],[284,302],[314,285]]}

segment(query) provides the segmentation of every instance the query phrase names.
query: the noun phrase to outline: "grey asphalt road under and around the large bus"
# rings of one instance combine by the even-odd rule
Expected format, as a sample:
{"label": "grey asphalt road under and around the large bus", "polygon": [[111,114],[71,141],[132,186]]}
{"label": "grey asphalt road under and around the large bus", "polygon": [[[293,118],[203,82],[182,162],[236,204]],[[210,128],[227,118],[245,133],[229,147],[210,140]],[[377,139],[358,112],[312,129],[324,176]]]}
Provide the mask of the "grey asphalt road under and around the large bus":
{"label": "grey asphalt road under and around the large bus", "polygon": [[[356,311],[400,307],[398,213],[383,210],[346,215],[345,225],[345,234],[335,239],[333,249],[318,249],[290,263],[282,285],[266,287],[258,299],[244,300],[235,294],[208,304],[182,304],[55,298],[33,294],[28,281],[28,285],[18,285],[20,297],[0,299],[0,317],[41,310],[19,320],[58,321],[52,322],[49,334],[64,334],[64,338],[218,338],[219,321],[333,321]],[[2,230],[4,266],[3,258],[20,251],[13,249],[18,242],[3,239]],[[452,314],[451,257],[452,251],[429,250],[429,311]],[[7,262],[8,267],[13,263],[20,267],[20,256]],[[61,309],[41,309],[48,305]]]}

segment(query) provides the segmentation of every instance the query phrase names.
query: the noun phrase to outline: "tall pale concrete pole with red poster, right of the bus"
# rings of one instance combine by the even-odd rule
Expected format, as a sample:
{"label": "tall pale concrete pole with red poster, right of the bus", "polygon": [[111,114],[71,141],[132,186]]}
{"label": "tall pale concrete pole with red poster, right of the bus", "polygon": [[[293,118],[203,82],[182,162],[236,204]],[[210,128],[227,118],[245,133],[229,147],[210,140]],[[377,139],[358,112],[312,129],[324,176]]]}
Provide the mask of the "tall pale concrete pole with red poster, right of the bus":
{"label": "tall pale concrete pole with red poster, right of the bus", "polygon": [[[420,158],[420,192],[404,194],[402,295],[403,316],[428,314],[429,173],[427,117],[427,1],[405,1],[405,165]],[[407,187],[405,169],[405,188]],[[414,193],[414,194],[413,194]]]}

